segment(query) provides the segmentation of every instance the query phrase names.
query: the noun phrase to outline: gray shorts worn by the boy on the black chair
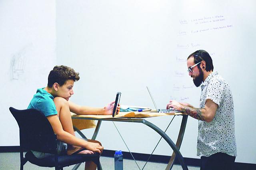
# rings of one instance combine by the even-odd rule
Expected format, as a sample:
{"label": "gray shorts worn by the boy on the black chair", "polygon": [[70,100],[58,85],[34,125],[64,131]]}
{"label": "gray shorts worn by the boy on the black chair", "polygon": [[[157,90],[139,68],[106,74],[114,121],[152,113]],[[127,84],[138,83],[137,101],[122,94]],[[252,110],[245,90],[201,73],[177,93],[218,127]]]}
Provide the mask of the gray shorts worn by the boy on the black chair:
{"label": "gray shorts worn by the boy on the black chair", "polygon": [[[57,150],[58,150],[58,155],[65,155],[67,153],[67,148],[68,145],[64,142],[61,142],[57,140]],[[48,154],[48,153],[43,153],[43,152],[38,152],[31,150],[31,152],[36,156],[36,158],[46,158],[48,156],[54,156],[54,154]]]}

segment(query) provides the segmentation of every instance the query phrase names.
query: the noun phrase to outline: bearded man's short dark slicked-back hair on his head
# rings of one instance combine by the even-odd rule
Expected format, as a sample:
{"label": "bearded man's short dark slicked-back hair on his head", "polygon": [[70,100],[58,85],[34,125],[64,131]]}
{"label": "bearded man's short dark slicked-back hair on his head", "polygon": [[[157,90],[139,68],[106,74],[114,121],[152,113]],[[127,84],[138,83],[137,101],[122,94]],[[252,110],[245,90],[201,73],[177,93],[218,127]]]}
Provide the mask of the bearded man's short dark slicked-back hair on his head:
{"label": "bearded man's short dark slicked-back hair on his head", "polygon": [[[194,63],[199,63],[200,61],[204,60],[206,63],[206,71],[213,71],[213,64],[212,64],[212,58],[209,55],[207,51],[204,51],[202,49],[195,51],[194,53],[190,54],[188,56],[188,59],[190,57],[194,57]],[[198,68],[200,68],[200,65],[197,65]]]}

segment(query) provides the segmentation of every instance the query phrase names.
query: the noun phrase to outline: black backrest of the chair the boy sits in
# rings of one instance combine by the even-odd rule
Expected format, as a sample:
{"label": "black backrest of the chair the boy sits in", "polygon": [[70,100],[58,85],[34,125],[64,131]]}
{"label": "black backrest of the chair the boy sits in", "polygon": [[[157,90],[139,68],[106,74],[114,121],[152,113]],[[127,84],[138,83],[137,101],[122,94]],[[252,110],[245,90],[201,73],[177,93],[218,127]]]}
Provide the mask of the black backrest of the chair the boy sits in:
{"label": "black backrest of the chair the boy sits in", "polygon": [[10,112],[20,128],[20,147],[44,153],[57,152],[57,137],[45,115],[36,109],[17,110],[10,107]]}

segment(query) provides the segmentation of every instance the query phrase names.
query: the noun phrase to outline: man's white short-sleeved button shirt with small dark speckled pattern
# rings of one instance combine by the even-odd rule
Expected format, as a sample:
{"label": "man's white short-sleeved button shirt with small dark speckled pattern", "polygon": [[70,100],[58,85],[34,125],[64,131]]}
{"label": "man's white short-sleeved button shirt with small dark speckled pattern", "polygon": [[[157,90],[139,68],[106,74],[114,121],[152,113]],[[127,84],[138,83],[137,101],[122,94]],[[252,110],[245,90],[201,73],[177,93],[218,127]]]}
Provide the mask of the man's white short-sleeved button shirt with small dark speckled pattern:
{"label": "man's white short-sleeved button shirt with small dark speckled pattern", "polygon": [[211,99],[218,109],[211,122],[198,121],[197,156],[217,152],[236,156],[234,104],[228,83],[218,72],[212,72],[201,89],[200,108],[204,108],[206,99]]}

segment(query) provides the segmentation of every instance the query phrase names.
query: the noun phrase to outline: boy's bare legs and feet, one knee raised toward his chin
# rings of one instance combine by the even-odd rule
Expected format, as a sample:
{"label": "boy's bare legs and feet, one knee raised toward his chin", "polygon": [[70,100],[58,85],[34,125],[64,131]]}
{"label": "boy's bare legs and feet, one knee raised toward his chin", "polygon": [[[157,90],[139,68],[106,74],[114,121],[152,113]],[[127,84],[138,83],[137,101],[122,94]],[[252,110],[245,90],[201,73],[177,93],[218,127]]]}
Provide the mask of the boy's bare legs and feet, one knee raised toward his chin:
{"label": "boy's bare legs and feet, one knee raised toward his chin", "polygon": [[[63,130],[75,136],[71,114],[68,106],[68,101],[66,101],[66,99],[62,97],[55,97],[54,103],[55,103],[56,110],[58,112],[58,117],[60,119],[60,123],[62,125]],[[90,140],[90,142],[98,142],[98,141]],[[67,154],[71,155],[72,153],[76,152],[79,149],[81,149],[81,147],[68,144]],[[88,150],[83,150],[79,152],[79,154],[88,154],[88,153],[89,153]],[[94,169],[96,170],[96,167],[97,166],[94,162],[87,161],[85,170],[94,170]]]}

